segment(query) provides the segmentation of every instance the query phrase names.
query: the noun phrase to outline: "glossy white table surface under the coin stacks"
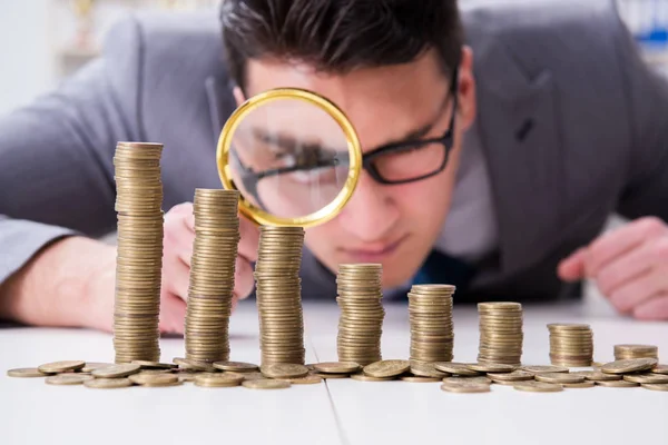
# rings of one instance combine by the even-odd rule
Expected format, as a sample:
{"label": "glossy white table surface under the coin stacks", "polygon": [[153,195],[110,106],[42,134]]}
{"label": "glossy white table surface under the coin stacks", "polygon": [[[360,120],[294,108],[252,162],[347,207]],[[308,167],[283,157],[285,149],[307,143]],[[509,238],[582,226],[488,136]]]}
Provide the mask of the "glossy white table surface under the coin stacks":
{"label": "glossy white table surface under the coin stacks", "polygon": [[[407,358],[404,305],[386,305],[383,358]],[[305,305],[307,362],[336,359],[338,309]],[[659,346],[668,362],[668,323],[640,323],[605,305],[524,306],[525,364],[549,364],[548,323],[589,323],[595,359],[612,346]],[[456,362],[475,360],[474,307],[454,313]],[[255,305],[242,304],[230,323],[232,359],[259,362]],[[184,355],[180,338],[161,342],[163,360]],[[641,388],[450,394],[439,383],[332,379],[285,390],[173,388],[92,390],[6,370],[62,359],[111,362],[111,336],[81,329],[0,329],[0,444],[134,444],[244,441],[246,444],[629,444],[668,443],[668,393]],[[159,441],[159,442],[157,442]]]}

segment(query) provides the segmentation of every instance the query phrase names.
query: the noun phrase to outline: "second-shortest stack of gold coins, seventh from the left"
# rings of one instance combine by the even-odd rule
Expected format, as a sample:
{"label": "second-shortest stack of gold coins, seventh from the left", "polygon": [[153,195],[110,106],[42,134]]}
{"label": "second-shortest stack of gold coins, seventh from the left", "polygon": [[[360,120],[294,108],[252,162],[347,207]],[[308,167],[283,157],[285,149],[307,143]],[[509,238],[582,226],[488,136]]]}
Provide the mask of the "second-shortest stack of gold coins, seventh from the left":
{"label": "second-shortest stack of gold coins, seventh from the left", "polygon": [[589,325],[553,323],[550,330],[550,362],[556,366],[590,366],[593,333]]}

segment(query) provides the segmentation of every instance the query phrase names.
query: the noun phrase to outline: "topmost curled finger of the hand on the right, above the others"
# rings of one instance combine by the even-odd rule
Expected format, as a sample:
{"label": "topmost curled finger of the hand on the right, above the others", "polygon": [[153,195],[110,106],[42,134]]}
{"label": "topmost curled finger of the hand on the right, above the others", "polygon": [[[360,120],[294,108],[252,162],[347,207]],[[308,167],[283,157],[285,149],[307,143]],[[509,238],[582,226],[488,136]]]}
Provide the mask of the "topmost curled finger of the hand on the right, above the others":
{"label": "topmost curled finger of the hand on the right, above the others", "polygon": [[647,239],[654,239],[667,233],[666,225],[659,218],[647,217],[600,236],[589,248],[586,260],[587,275],[596,276],[605,265],[621,254],[638,247]]}

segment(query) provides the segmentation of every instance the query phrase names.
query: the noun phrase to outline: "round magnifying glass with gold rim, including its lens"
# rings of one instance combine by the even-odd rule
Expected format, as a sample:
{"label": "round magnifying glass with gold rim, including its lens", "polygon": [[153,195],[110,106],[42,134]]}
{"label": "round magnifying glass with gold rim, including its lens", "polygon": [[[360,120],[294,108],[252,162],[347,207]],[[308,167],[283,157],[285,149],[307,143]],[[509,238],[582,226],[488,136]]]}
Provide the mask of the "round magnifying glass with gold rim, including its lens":
{"label": "round magnifying glass with gold rim, including its lens", "polygon": [[312,91],[281,88],[239,106],[218,140],[218,174],[238,190],[239,211],[258,225],[312,227],[334,218],[362,169],[344,112]]}

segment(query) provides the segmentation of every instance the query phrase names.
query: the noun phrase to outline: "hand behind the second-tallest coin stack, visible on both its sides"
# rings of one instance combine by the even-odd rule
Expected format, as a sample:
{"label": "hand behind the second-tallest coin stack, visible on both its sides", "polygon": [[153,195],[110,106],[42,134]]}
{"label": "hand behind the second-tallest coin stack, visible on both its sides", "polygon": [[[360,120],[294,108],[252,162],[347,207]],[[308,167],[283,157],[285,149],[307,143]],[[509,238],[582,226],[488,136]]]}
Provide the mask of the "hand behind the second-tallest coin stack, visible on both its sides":
{"label": "hand behind the second-tallest coin stack, visible on both its sides", "polygon": [[[235,266],[233,308],[238,299],[253,291],[253,267],[257,256],[259,230],[245,218],[239,220],[242,239]],[[173,207],[165,215],[165,240],[163,255],[163,286],[160,295],[160,330],[184,332],[186,300],[190,283],[190,258],[195,240],[195,217],[193,204],[184,202]]]}

